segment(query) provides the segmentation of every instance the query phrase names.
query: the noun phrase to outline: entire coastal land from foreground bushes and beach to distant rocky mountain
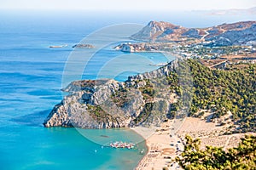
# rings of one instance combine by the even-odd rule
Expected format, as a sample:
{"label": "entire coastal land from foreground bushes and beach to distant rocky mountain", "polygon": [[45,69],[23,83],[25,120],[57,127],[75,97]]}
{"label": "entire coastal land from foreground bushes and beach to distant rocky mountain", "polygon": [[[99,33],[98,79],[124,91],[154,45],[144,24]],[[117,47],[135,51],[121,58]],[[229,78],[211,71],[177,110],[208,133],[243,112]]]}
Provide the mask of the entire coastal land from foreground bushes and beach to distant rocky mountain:
{"label": "entire coastal land from foreground bushes and beach to distant rocky mountain", "polygon": [[[202,29],[150,21],[131,39],[141,42],[114,48],[129,53],[165,51],[182,58],[125,82],[71,82],[62,89],[68,95],[55,105],[44,127],[133,127],[138,133],[138,126],[156,127],[147,139],[148,154],[137,169],[253,169],[256,21]],[[179,121],[181,127],[176,126]],[[201,139],[201,144],[186,134]],[[235,148],[229,150],[231,147]],[[249,158],[244,160],[239,154],[234,156],[236,153]],[[197,161],[185,156],[195,156]],[[216,163],[205,164],[211,160]]]}

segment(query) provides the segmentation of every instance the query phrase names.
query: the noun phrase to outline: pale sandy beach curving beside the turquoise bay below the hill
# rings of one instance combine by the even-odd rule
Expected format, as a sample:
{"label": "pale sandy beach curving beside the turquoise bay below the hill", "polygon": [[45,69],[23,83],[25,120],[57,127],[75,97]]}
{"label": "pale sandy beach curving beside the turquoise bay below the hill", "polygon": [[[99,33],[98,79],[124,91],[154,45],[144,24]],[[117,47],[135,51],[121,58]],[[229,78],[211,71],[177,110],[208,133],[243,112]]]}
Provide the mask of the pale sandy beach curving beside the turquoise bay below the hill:
{"label": "pale sandy beach curving beside the turquoise bay below the hill", "polygon": [[256,135],[256,133],[223,135],[226,128],[227,126],[217,126],[214,122],[206,122],[206,120],[194,117],[186,117],[183,122],[169,120],[163,122],[160,127],[150,129],[132,127],[132,130],[146,139],[148,146],[148,153],[140,161],[136,170],[162,170],[163,167],[170,170],[182,169],[177,162],[172,162],[172,160],[182,153],[186,134],[201,139],[201,149],[204,149],[206,145],[213,145],[224,147],[224,150],[237,146],[245,134]]}

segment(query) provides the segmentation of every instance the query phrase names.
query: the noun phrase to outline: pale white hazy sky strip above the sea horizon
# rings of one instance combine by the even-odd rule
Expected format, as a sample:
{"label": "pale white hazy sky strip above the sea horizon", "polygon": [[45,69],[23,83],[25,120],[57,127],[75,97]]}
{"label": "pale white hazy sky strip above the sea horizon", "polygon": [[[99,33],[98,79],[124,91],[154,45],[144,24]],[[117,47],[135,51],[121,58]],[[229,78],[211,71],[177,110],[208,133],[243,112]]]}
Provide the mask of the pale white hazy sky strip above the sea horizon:
{"label": "pale white hazy sky strip above the sea horizon", "polygon": [[256,7],[256,0],[0,0],[0,8],[195,10]]}

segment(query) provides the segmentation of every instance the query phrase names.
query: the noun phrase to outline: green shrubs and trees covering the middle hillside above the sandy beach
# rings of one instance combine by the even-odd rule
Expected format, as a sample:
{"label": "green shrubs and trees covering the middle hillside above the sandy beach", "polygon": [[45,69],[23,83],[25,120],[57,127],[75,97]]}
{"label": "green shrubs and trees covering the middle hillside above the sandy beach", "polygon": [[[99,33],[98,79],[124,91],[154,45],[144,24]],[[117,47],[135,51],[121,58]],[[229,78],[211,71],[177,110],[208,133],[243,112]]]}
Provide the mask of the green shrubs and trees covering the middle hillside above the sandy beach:
{"label": "green shrubs and trees covering the middle hillside above the sandy beach", "polygon": [[[177,102],[166,108],[161,115],[167,118],[184,116],[203,116],[205,111],[212,113],[212,120],[225,115],[230,124],[230,132],[256,131],[256,65],[246,64],[239,70],[227,66],[222,70],[212,70],[202,65],[199,59],[183,59],[176,69],[166,77],[135,81],[132,88],[138,88],[143,94],[143,111],[137,117],[136,124],[144,122],[148,116],[154,116],[158,95],[172,92],[177,94]],[[144,85],[138,84],[144,82]],[[157,87],[159,86],[159,87]],[[131,88],[131,87],[130,87]],[[127,104],[127,91],[119,89],[113,96],[116,105]],[[159,110],[159,109],[158,109]],[[162,120],[163,121],[163,120]],[[224,123],[224,122],[223,122]]]}

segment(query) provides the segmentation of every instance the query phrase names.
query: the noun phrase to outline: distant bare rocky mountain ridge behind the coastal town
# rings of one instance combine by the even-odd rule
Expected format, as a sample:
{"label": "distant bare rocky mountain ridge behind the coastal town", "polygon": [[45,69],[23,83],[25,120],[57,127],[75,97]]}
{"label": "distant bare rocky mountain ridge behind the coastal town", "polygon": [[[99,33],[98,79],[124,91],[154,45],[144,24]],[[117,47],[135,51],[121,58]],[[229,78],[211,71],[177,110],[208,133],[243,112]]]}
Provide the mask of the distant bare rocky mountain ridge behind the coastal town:
{"label": "distant bare rocky mountain ridge behind the coastal town", "polygon": [[208,28],[185,28],[164,21],[150,21],[132,39],[146,42],[212,42],[238,45],[256,41],[256,21],[241,21]]}

